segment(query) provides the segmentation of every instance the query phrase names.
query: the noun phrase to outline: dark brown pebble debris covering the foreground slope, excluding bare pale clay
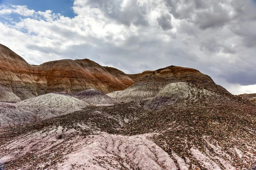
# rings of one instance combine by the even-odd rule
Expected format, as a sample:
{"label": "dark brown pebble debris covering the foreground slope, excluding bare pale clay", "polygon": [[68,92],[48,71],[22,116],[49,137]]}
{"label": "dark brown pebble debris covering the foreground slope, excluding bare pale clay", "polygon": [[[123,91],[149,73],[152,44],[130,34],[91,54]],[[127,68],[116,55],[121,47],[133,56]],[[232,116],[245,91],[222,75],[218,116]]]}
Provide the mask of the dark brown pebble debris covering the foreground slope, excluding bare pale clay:
{"label": "dark brown pebble debris covering the foreground slope, excluding bare pale clay", "polygon": [[[153,111],[144,109],[145,101],[102,107],[89,106],[83,111],[77,111],[37,123],[0,128],[0,146],[18,136],[40,130],[48,131],[52,127],[58,126],[66,127],[67,129],[74,128],[81,132],[74,135],[93,135],[93,130],[83,130],[76,126],[77,123],[90,124],[92,129],[97,128],[102,132],[110,134],[132,136],[156,133],[149,137],[149,140],[155,142],[169,153],[170,156],[173,151],[182,158],[191,158],[193,164],[204,170],[205,168],[201,167],[198,161],[192,158],[189,148],[196,147],[202,153],[206,152],[205,136],[210,136],[212,141],[213,139],[216,140],[226,153],[230,152],[229,148],[235,146],[241,146],[246,151],[247,147],[244,147],[243,141],[247,141],[252,147],[256,145],[256,105],[246,99],[230,94],[220,95],[227,96],[227,100],[201,100],[196,101],[196,103],[186,103],[186,105],[178,102]],[[125,122],[124,119],[127,119],[128,122]],[[253,131],[254,133],[252,133]],[[64,140],[68,141],[72,137],[68,136]],[[234,138],[243,140],[234,141]],[[27,153],[25,156],[5,164],[4,167],[0,165],[0,170],[17,169],[28,162],[31,168],[37,167],[39,163],[45,163],[46,166],[44,168],[54,167],[58,162],[64,161],[62,149],[66,149],[66,154],[73,151],[72,147],[61,148],[60,145],[51,148],[49,153],[38,157],[36,155],[37,151],[34,150],[32,153]],[[212,150],[209,147],[207,149]],[[4,148],[1,147],[0,154],[5,152]],[[54,153],[54,157],[52,157],[52,153]],[[256,155],[256,153],[253,154]],[[230,155],[233,155],[233,153],[230,152]],[[237,155],[233,156],[234,159],[231,162],[233,166],[238,169],[248,169],[251,167],[251,170],[255,170],[255,162],[244,164]],[[102,162],[109,161],[111,164],[111,159],[97,157],[97,162],[100,164],[104,160]],[[119,161],[118,158],[115,159]],[[132,167],[129,160],[125,161]],[[74,165],[74,167],[79,166],[82,167],[79,164]],[[118,166],[121,170],[125,170],[125,167],[122,167],[122,162]],[[104,164],[102,164],[102,167],[104,167]]]}

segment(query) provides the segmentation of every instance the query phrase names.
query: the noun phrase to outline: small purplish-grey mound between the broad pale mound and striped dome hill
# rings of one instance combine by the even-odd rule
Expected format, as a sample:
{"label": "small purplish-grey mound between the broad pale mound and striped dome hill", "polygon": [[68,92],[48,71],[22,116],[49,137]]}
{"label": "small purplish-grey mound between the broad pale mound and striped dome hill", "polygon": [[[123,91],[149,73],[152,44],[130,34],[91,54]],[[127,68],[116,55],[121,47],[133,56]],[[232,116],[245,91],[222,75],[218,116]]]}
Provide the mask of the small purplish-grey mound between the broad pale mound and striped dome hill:
{"label": "small purplish-grey mound between the broad pale mound and striped dome hill", "polygon": [[73,95],[74,97],[87,102],[90,105],[115,105],[118,104],[113,98],[94,89],[81,91]]}

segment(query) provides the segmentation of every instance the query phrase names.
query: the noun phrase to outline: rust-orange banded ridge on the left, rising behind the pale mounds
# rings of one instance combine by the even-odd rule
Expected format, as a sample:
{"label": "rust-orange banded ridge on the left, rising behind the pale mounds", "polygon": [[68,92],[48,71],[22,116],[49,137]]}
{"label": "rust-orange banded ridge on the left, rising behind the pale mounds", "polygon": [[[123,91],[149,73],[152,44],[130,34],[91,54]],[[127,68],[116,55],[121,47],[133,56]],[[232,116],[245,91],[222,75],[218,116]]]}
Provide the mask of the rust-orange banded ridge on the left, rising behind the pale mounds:
{"label": "rust-orange banded ridge on the left, rising behind the pale mounds", "polygon": [[77,93],[87,89],[107,94],[124,90],[134,83],[122,71],[108,70],[89,59],[29,65],[15,52],[0,45],[0,84],[21,100],[50,92]]}

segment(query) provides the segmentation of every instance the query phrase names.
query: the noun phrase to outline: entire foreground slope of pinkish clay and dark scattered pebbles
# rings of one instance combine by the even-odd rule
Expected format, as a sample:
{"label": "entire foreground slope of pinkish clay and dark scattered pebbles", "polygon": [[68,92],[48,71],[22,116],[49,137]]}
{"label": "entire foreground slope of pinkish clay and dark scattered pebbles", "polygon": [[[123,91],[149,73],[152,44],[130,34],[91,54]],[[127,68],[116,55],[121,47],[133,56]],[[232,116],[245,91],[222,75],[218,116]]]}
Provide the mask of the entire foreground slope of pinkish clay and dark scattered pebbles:
{"label": "entire foreground slope of pinkish clay and dark scattered pebbles", "polygon": [[146,111],[145,102],[1,128],[0,169],[255,169],[255,104],[234,97]]}

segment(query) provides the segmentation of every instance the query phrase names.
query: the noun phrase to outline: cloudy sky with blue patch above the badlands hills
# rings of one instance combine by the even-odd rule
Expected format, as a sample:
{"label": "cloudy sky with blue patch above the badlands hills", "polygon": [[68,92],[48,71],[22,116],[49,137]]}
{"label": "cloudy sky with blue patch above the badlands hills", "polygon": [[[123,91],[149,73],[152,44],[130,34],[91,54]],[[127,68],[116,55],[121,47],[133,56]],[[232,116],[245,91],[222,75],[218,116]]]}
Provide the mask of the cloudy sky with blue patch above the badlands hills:
{"label": "cloudy sky with blue patch above the badlands hills", "polygon": [[233,94],[256,93],[255,30],[256,0],[0,0],[0,43],[30,64],[177,65]]}

